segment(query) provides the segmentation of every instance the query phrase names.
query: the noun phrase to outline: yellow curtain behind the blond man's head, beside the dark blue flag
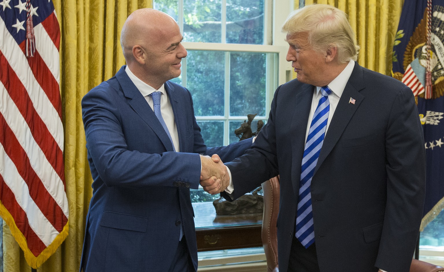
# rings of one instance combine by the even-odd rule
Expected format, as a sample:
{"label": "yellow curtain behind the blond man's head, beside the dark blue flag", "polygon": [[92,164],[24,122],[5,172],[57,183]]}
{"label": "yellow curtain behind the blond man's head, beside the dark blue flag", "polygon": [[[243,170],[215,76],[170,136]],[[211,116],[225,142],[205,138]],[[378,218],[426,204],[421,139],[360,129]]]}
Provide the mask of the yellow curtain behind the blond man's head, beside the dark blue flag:
{"label": "yellow curtain behind the blond man's head, beside the dark blue flag", "polygon": [[[299,0],[294,6],[299,6]],[[329,4],[349,16],[361,47],[358,63],[370,70],[392,75],[392,51],[404,0],[305,0],[308,4]]]}

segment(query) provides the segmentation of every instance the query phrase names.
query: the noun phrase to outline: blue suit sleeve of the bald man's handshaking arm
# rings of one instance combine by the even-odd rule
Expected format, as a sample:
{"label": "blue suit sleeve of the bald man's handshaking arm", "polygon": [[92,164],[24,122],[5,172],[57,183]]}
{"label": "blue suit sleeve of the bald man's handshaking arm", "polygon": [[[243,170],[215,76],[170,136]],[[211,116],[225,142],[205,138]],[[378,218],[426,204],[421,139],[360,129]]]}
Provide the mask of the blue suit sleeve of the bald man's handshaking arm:
{"label": "blue suit sleeve of the bald man's handshaking arm", "polygon": [[152,154],[128,148],[116,96],[107,94],[107,87],[96,87],[82,99],[88,159],[97,171],[93,177],[107,186],[174,186],[174,181],[182,181],[197,189],[198,154],[163,152],[155,146]]}

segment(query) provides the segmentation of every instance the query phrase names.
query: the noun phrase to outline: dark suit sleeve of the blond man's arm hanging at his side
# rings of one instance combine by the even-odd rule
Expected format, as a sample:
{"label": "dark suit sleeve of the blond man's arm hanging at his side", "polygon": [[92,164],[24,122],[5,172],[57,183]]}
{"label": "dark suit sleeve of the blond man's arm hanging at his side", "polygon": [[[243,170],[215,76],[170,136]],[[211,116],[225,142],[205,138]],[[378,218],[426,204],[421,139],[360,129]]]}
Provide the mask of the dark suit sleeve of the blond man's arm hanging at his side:
{"label": "dark suit sleeve of the blond man's arm hanging at his side", "polygon": [[387,205],[375,266],[408,271],[422,218],[425,148],[412,91],[399,91],[386,130]]}

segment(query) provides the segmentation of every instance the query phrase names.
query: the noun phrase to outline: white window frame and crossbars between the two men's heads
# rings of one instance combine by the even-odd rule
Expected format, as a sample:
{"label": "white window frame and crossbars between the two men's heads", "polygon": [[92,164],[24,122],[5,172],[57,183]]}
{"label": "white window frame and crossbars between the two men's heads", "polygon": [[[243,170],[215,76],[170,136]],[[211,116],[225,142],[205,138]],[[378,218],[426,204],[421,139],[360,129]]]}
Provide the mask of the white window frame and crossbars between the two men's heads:
{"label": "white window frame and crossbars between the two men's heads", "polygon": [[[178,10],[183,11],[183,0],[178,0]],[[273,12],[268,12],[272,10]],[[260,52],[260,53],[277,53],[278,57],[267,55],[266,58],[266,109],[265,115],[256,116],[256,120],[266,120],[270,112],[271,101],[277,86],[291,79],[291,64],[285,60],[288,45],[285,42],[285,35],[281,33],[281,25],[285,21],[289,12],[293,10],[293,1],[288,0],[265,0],[264,2],[264,42],[261,44],[238,44],[238,43],[195,43],[182,42],[186,50],[203,50],[203,51],[223,51],[225,55],[225,96],[224,96],[224,115],[223,116],[196,116],[197,121],[223,121],[224,122],[224,142],[228,145],[230,141],[230,121],[244,121],[245,116],[230,116],[230,53],[229,52]],[[278,16],[277,16],[278,14]],[[226,0],[222,0],[222,31],[221,41],[226,40]],[[183,12],[178,12],[178,24],[183,34]],[[182,63],[186,67],[186,58],[182,59]],[[277,78],[274,77],[274,71],[277,72]],[[182,85],[186,84],[186,69],[182,69]],[[192,89],[190,90],[192,91]],[[253,113],[253,112],[251,112]],[[250,114],[246,113],[246,114]]]}

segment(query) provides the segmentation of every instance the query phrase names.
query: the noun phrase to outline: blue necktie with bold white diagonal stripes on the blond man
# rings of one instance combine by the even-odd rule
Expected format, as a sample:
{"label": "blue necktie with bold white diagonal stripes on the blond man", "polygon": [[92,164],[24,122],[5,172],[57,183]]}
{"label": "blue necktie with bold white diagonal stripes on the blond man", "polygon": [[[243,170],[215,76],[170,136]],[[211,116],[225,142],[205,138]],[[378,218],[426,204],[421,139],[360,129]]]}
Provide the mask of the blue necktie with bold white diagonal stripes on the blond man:
{"label": "blue necktie with bold white diagonal stripes on the blond man", "polygon": [[301,166],[301,183],[299,187],[299,202],[297,203],[296,238],[308,248],[314,242],[313,212],[311,206],[310,184],[313,177],[317,158],[324,142],[327,119],[329,118],[329,87],[321,88],[321,98],[311,121],[307,142],[305,143],[304,157]]}

